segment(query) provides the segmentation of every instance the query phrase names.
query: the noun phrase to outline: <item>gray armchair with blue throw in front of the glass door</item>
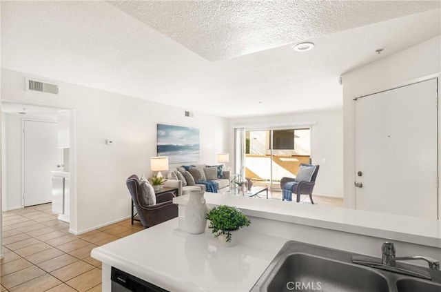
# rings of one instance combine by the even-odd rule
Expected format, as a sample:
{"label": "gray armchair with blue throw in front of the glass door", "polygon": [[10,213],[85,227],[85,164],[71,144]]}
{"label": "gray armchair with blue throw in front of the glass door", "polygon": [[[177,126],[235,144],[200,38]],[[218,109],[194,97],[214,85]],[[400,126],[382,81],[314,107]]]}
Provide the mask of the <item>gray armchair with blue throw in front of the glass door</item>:
{"label": "gray armchair with blue throw in front of the glass door", "polygon": [[[310,175],[310,172],[312,171],[311,167],[314,167],[314,172],[312,175]],[[312,191],[314,190],[314,185],[316,184],[318,168],[320,168],[319,165],[300,164],[297,177],[282,177],[282,179],[280,179],[280,188],[283,190],[287,182],[293,182],[291,191],[297,195],[296,202],[300,202],[300,195],[309,195],[311,204],[314,204],[314,201],[312,200]],[[310,179],[304,180],[304,177],[310,177]],[[284,192],[282,200],[285,201],[285,199],[291,200],[289,197],[286,197]]]}

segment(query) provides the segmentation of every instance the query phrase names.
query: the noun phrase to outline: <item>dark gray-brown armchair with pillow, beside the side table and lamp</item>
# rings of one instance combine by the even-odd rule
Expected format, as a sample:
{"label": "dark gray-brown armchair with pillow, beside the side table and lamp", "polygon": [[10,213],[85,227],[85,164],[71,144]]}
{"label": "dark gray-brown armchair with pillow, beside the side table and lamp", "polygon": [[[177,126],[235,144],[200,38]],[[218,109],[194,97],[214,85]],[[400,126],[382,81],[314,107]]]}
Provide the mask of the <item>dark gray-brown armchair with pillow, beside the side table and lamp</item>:
{"label": "dark gray-brown armchair with pillow, beside the side table and lamp", "polygon": [[132,202],[138,212],[141,224],[147,227],[165,222],[174,217],[178,217],[178,206],[173,204],[173,193],[167,192],[156,195],[156,204],[146,206],[141,198],[141,184],[137,175],[131,175],[127,181],[127,188],[129,188]]}

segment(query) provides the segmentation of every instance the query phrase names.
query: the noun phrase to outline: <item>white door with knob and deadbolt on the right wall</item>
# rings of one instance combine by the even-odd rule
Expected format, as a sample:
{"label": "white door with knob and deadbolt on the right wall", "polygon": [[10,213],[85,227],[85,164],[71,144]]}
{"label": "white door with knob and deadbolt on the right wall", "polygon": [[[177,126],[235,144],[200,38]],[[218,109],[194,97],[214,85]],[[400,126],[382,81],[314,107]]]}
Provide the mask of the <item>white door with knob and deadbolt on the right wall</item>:
{"label": "white door with knob and deadbolt on the right wall", "polygon": [[357,209],[437,219],[437,83],[355,101]]}

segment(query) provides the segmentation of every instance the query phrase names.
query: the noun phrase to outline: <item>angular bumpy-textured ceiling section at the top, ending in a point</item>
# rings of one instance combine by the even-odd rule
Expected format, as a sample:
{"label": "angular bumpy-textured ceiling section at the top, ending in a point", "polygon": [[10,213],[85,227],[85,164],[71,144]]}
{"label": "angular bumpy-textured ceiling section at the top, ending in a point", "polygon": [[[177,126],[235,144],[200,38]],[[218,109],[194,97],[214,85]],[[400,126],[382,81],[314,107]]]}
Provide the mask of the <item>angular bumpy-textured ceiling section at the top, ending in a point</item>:
{"label": "angular bumpy-textured ceiling section at the top, ending in a point", "polygon": [[313,39],[410,13],[439,1],[110,1],[209,61]]}

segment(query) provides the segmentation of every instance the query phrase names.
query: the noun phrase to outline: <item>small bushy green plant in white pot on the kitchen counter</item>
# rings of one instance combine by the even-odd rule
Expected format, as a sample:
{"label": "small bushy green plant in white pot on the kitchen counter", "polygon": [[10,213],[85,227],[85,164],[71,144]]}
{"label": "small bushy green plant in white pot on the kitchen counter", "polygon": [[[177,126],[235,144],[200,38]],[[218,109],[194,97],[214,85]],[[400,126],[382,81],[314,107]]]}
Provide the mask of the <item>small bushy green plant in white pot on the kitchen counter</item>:
{"label": "small bushy green plant in white pot on the kitchen counter", "polygon": [[251,224],[248,217],[238,208],[225,205],[212,208],[207,213],[207,220],[208,228],[212,229],[214,237],[227,246],[237,244],[237,234],[233,238],[235,231]]}

